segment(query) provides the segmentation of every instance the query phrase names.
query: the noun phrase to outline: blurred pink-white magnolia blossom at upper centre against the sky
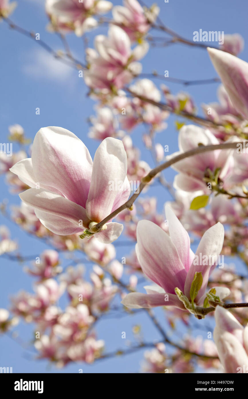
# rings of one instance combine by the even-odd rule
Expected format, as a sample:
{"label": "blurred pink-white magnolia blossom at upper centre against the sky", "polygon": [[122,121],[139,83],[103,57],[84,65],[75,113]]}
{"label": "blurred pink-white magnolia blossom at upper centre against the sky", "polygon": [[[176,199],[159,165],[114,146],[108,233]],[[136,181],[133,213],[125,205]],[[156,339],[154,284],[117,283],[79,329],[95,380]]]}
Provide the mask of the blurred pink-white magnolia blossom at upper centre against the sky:
{"label": "blurred pink-white magnolia blossom at upper centre against the sky", "polygon": [[95,38],[97,51],[88,52],[89,69],[84,72],[86,85],[92,89],[121,89],[141,73],[139,59],[148,51],[148,43],[131,49],[131,42],[126,32],[119,26],[111,26],[108,36]]}

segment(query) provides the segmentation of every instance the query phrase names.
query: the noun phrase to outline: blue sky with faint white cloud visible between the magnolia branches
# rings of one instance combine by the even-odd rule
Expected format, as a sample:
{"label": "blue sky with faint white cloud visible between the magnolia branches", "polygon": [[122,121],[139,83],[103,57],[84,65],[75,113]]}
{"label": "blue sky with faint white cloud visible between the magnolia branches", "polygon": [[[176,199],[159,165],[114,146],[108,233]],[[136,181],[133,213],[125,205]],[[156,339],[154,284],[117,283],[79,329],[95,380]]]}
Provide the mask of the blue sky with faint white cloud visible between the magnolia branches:
{"label": "blue sky with faint white cloud visible between the magnolia branches", "polygon": [[[146,4],[151,5],[152,0],[147,0]],[[113,1],[113,4],[120,4]],[[199,29],[212,31],[224,31],[227,34],[240,33],[245,41],[248,38],[246,0],[208,0],[203,2],[199,0],[169,0],[164,3],[158,1],[160,6],[160,18],[164,23],[181,34],[192,40],[193,32]],[[62,45],[59,38],[46,31],[47,18],[44,11],[44,1],[27,0],[19,1],[18,7],[10,18],[18,25],[40,33],[40,37],[49,43],[55,50],[61,49]],[[98,33],[106,33],[106,28],[95,30],[88,34],[90,45],[93,38]],[[162,36],[160,32],[154,32],[154,36]],[[8,126],[11,124],[21,124],[25,129],[27,137],[33,140],[36,132],[43,126],[62,126],[76,134],[89,148],[90,153],[94,152],[99,142],[88,138],[87,118],[94,115],[94,106],[96,103],[86,97],[88,91],[83,80],[78,77],[76,70],[64,66],[56,61],[52,56],[43,50],[36,42],[18,34],[8,28],[1,22],[0,24],[0,53],[1,53],[1,108],[0,108],[0,142],[6,142],[8,136]],[[75,55],[83,59],[83,45],[80,38],[74,35],[68,35],[68,42]],[[246,48],[240,54],[240,57],[248,61]],[[216,76],[211,65],[207,51],[196,47],[184,45],[173,45],[166,48],[152,48],[143,59],[143,72],[149,73],[156,69],[159,74],[164,70],[169,71],[170,77],[182,78],[187,80],[210,79]],[[154,81],[156,85],[162,81]],[[170,87],[172,93],[180,90],[191,94],[201,115],[201,103],[216,101],[216,89],[218,84],[190,86],[186,89],[179,84],[164,82]],[[40,115],[35,115],[35,109],[40,108]],[[160,132],[156,141],[164,146],[169,145],[169,153],[178,150],[177,130],[174,126],[174,117],[168,120],[168,128]],[[133,132],[132,139],[142,154],[142,159],[153,166],[150,153],[144,148],[141,137],[144,128],[138,128]],[[15,148],[15,147],[14,147]],[[13,149],[14,149],[13,148]],[[166,170],[166,179],[173,180],[174,172]],[[10,204],[19,204],[18,196],[9,193],[4,184],[4,178],[1,177],[1,195],[0,201],[8,199]],[[170,199],[169,194],[164,189],[156,187],[154,191],[148,192],[149,196],[158,197],[159,211],[162,211],[164,202]],[[31,238],[23,233],[12,222],[0,216],[0,224],[5,224],[11,229],[12,237],[18,240],[20,252],[23,256],[39,255],[46,245],[40,243],[37,239]],[[126,241],[124,235],[120,241]],[[117,257],[131,252],[132,247],[118,246]],[[228,259],[225,259],[228,262]],[[67,265],[68,260],[61,257],[62,265]],[[244,267],[236,263],[239,271],[244,273]],[[90,268],[90,265],[87,265]],[[0,307],[8,307],[9,298],[21,289],[32,291],[33,280],[23,273],[22,265],[16,262],[0,259]],[[139,287],[142,290],[142,286]],[[156,309],[155,313],[160,319],[161,324],[168,329],[164,312]],[[205,321],[203,320],[204,324]],[[108,320],[107,317],[97,324],[98,337],[105,340],[106,352],[112,352],[115,349],[125,348],[127,341],[134,341],[132,336],[132,326],[142,324],[143,334],[147,342],[159,340],[160,335],[150,323],[147,316],[141,312],[135,316],[126,316]],[[20,324],[17,328],[22,340],[27,343],[31,340],[33,326]],[[127,340],[123,342],[121,332],[125,331]],[[182,328],[177,336],[173,336],[174,341],[182,338]],[[194,334],[200,332],[194,332]],[[169,349],[169,348],[168,348]],[[35,361],[34,353],[23,349],[8,336],[0,338],[0,366],[13,367],[13,372],[78,372],[79,368],[85,373],[118,372],[129,373],[139,371],[139,362],[143,358],[143,351],[140,350],[134,354],[101,360],[94,365],[72,364],[62,370],[50,367],[47,361]]]}

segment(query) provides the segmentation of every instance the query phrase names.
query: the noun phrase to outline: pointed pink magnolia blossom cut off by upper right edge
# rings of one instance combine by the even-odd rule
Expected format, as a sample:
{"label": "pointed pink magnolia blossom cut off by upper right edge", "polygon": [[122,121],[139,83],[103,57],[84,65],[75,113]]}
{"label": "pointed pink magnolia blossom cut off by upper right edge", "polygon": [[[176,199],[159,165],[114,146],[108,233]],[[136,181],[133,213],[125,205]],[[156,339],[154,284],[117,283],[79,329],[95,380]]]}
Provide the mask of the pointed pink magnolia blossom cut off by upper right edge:
{"label": "pointed pink magnolia blossom cut off by upper right edge", "polygon": [[248,63],[225,51],[208,47],[208,52],[234,108],[248,119]]}

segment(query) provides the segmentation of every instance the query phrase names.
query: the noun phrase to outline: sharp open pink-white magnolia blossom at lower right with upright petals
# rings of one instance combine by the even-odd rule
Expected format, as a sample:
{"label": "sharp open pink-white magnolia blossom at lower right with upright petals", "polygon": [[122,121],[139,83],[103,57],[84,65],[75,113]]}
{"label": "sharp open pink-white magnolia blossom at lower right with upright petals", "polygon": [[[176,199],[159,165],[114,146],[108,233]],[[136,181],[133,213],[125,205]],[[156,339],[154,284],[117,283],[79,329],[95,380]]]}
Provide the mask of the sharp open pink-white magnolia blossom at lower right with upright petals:
{"label": "sharp open pink-white magnolia blossom at lower right with upright petals", "polygon": [[[203,305],[209,275],[215,268],[215,258],[221,253],[224,240],[224,227],[217,223],[203,235],[194,255],[190,249],[190,239],[172,209],[166,206],[166,219],[170,236],[148,220],[141,220],[137,226],[136,253],[143,273],[156,286],[146,286],[147,294],[132,292],[122,303],[129,308],[152,308],[155,306],[175,306],[184,308],[175,288],[179,288],[190,299],[191,283],[196,272],[201,272],[203,283],[195,298],[195,303]],[[200,255],[201,254],[201,255]],[[193,262],[199,256],[207,256],[207,265]],[[201,263],[201,262],[198,262]],[[203,263],[203,262],[202,262]],[[228,288],[217,287],[216,295],[228,296]]]}

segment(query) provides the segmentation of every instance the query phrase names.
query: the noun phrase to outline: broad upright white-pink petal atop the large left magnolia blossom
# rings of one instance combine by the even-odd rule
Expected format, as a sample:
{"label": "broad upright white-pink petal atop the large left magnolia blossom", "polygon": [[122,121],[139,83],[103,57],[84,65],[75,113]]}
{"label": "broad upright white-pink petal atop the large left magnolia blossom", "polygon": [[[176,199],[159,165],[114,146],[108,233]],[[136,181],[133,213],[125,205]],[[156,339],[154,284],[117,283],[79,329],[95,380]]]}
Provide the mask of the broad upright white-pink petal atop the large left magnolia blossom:
{"label": "broad upright white-pink petal atop the large left magnolia blossom", "polygon": [[75,134],[56,126],[41,128],[33,140],[32,164],[37,182],[54,187],[70,201],[85,207],[92,159]]}

